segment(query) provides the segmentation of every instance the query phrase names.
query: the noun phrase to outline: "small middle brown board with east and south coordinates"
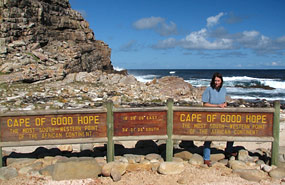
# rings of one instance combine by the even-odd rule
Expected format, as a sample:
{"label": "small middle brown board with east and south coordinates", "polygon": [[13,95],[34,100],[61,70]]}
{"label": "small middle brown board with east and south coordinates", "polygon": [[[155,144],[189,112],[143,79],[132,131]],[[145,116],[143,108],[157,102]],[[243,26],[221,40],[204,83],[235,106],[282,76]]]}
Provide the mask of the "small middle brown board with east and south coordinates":
{"label": "small middle brown board with east and south coordinates", "polygon": [[166,111],[115,112],[114,136],[166,135]]}

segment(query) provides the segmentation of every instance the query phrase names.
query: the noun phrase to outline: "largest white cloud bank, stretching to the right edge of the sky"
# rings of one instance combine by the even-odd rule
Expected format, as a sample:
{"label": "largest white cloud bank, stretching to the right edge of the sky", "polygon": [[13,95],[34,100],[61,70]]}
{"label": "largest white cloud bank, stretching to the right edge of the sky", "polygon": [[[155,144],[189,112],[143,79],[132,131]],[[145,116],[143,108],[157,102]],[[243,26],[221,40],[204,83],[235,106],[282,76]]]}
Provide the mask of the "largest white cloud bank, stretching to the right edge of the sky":
{"label": "largest white cloud bank, stretching to the right edge of the sky", "polygon": [[[169,49],[180,47],[187,51],[199,50],[219,50],[224,53],[212,56],[216,57],[244,57],[244,51],[251,50],[256,55],[280,55],[285,56],[285,35],[273,39],[261,34],[257,30],[244,30],[238,33],[229,33],[224,27],[212,29],[212,26],[219,23],[222,16],[227,15],[223,12],[207,19],[207,27],[198,31],[193,31],[184,38],[167,38],[152,45],[155,49]],[[163,27],[164,20],[157,23],[152,29],[158,32],[158,25]],[[162,30],[173,32],[176,30],[174,23],[166,24]],[[211,28],[210,28],[211,27]],[[162,31],[160,31],[162,34]],[[164,35],[167,35],[165,32]],[[227,52],[225,52],[227,51]]]}

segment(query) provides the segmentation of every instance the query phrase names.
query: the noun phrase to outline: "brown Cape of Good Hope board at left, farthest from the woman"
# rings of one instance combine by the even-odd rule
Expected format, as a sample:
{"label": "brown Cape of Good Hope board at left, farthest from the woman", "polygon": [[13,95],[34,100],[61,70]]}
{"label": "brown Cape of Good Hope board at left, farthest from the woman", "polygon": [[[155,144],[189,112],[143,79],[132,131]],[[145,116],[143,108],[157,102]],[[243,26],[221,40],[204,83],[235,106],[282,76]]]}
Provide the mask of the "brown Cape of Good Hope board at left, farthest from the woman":
{"label": "brown Cape of Good Hope board at left, farthest from the woman", "polygon": [[1,142],[106,137],[106,113],[4,116]]}

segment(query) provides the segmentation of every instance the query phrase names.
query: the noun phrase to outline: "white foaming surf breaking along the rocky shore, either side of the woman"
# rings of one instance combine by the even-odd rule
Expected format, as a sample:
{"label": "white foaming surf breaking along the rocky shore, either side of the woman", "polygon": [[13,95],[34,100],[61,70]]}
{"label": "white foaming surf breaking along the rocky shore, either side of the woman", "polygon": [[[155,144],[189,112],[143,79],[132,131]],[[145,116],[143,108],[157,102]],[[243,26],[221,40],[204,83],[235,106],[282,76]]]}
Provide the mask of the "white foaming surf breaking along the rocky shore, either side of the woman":
{"label": "white foaming surf breaking along the rocky shore, either side of the woman", "polygon": [[[173,73],[175,72],[175,73]],[[167,74],[180,74],[176,73],[174,70],[167,71],[165,74],[158,71],[151,72],[151,74],[134,74],[134,76],[141,82],[149,82],[154,78],[160,78],[162,75]],[[183,74],[183,73],[182,73]],[[181,75],[181,74],[180,74]],[[201,75],[197,75],[201,76]],[[182,76],[184,77],[184,76]],[[202,77],[202,76],[201,76]],[[209,86],[211,82],[211,78],[208,77],[190,77],[184,80],[190,83],[194,87],[201,86]],[[280,100],[284,102],[285,99],[285,81],[281,79],[273,79],[273,78],[257,78],[257,77],[249,77],[249,76],[234,76],[234,77],[224,77],[224,86],[227,88],[227,94],[232,99],[247,99],[247,100],[256,100],[256,99],[266,99],[269,101]],[[263,88],[255,88],[256,86],[269,86],[274,89],[263,89]],[[244,88],[242,88],[244,87]]]}

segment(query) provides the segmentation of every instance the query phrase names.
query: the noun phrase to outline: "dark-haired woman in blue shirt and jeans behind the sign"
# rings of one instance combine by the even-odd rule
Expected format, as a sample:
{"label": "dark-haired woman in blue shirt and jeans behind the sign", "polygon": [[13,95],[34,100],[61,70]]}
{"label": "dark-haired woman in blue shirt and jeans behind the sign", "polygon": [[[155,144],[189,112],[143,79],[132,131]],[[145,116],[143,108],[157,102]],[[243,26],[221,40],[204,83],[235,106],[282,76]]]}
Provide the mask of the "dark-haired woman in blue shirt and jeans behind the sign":
{"label": "dark-haired woman in blue shirt and jeans behind the sign", "polygon": [[[223,87],[222,74],[214,73],[210,87],[207,87],[207,89],[204,91],[202,95],[203,105],[205,107],[220,107],[220,108],[226,107],[227,106],[226,93],[227,93],[226,88]],[[204,164],[208,165],[209,167],[212,166],[210,160],[211,143],[212,141],[205,141],[204,150],[203,150]],[[227,154],[236,155],[235,153],[232,153],[232,149],[233,149],[233,142],[227,142],[227,147],[225,151],[226,155]]]}

